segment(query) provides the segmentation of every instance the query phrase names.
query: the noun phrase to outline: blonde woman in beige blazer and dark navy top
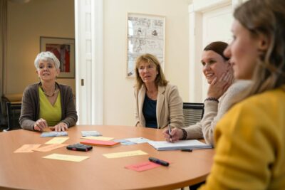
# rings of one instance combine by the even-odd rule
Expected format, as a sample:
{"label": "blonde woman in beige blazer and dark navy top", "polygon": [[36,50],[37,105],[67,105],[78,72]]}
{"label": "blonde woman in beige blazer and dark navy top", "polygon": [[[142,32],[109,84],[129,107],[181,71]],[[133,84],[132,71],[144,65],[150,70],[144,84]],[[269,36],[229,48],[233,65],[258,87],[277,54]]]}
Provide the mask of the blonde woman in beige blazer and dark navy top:
{"label": "blonde woman in beige blazer and dark navy top", "polygon": [[146,53],[137,58],[135,79],[135,126],[182,127],[182,99],[177,87],[165,79],[155,56]]}

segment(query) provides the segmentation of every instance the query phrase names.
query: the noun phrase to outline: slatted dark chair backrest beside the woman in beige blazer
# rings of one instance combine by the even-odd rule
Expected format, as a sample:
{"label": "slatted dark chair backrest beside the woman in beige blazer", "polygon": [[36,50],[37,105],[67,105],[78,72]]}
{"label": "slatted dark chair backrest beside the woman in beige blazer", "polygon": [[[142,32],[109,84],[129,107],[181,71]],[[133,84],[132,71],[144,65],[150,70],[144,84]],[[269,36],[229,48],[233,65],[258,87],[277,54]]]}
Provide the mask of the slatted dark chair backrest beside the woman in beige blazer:
{"label": "slatted dark chair backrest beside the woman in beige blazer", "polygon": [[183,126],[188,127],[199,122],[204,115],[203,103],[183,102]]}

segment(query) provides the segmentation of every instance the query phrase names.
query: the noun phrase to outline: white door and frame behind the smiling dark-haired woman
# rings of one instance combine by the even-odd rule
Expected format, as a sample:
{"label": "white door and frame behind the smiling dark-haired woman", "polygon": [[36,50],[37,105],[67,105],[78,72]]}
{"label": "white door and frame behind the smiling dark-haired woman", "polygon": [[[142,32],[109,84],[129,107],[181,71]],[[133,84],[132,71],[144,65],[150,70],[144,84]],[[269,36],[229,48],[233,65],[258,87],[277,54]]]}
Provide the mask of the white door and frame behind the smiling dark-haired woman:
{"label": "white door and frame behind the smiling dark-haired woman", "polygon": [[[202,102],[208,85],[202,74],[202,49],[212,41],[232,40],[232,12],[242,0],[193,0],[190,16],[190,102]],[[221,29],[222,28],[222,29]]]}

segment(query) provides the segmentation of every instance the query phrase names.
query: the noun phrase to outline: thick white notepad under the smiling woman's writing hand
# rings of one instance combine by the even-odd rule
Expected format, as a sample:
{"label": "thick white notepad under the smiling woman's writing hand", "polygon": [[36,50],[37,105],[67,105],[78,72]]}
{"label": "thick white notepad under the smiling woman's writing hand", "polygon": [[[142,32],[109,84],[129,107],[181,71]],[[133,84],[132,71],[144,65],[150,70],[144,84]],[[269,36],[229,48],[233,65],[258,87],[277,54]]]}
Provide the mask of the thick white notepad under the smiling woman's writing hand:
{"label": "thick white notepad under the smiling woman's writing hand", "polygon": [[199,142],[199,140],[180,140],[177,142],[150,141],[148,142],[157,150],[174,150],[174,149],[210,149],[211,145]]}

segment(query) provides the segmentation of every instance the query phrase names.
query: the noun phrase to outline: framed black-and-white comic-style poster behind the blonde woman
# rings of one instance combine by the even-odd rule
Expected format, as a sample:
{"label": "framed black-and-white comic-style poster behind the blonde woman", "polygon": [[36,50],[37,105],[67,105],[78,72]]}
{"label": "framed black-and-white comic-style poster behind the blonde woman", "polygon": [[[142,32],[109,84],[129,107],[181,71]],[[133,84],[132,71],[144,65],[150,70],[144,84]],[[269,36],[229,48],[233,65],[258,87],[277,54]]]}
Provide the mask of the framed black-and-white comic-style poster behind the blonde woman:
{"label": "framed black-and-white comic-style poster behind the blonde woman", "polygon": [[128,13],[127,77],[135,77],[135,60],[150,53],[165,62],[165,16]]}

